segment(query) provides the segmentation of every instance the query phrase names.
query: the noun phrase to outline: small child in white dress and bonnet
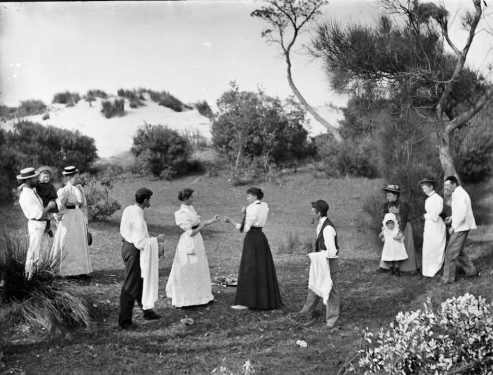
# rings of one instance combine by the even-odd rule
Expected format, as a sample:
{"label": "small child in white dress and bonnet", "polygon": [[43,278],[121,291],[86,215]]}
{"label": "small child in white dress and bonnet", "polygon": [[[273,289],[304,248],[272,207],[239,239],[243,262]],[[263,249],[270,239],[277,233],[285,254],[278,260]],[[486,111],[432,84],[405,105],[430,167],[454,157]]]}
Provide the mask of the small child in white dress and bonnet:
{"label": "small child in white dress and bonnet", "polygon": [[390,273],[400,276],[399,263],[408,258],[404,246],[404,233],[399,230],[397,217],[393,213],[386,213],[382,224],[382,232],[379,235],[384,241],[382,260],[387,263]]}

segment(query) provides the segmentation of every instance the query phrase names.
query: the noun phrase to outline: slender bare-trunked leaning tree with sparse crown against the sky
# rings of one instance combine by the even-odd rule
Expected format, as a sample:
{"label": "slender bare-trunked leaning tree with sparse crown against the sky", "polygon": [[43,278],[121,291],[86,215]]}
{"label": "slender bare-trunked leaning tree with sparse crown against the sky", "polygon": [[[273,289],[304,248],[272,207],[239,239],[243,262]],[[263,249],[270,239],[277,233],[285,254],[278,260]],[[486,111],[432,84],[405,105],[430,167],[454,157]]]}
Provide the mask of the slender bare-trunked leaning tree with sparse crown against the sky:
{"label": "slender bare-trunked leaning tree with sparse crown against the sky", "polygon": [[296,38],[304,31],[303,27],[317,15],[321,14],[320,8],[328,3],[327,0],[265,0],[266,6],[256,9],[251,13],[252,17],[260,18],[272,26],[265,29],[262,37],[269,43],[277,44],[287,65],[287,82],[294,95],[303,104],[310,114],[332,133],[338,142],[342,141],[339,129],[325,120],[317,110],[312,107],[293,82],[291,74],[291,52]]}

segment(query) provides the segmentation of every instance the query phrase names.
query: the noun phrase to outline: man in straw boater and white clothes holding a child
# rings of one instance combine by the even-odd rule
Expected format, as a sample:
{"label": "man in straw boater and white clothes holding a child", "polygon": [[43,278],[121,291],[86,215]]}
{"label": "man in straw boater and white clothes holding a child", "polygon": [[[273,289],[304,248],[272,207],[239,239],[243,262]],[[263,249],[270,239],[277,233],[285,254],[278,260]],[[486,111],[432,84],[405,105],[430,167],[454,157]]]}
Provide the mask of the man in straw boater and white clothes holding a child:
{"label": "man in straw boater and white clothes holding a child", "polygon": [[29,248],[26,255],[25,274],[31,279],[40,257],[48,252],[48,234],[46,230],[46,214],[56,205],[48,203],[43,208],[43,202],[36,192],[38,183],[37,172],[34,168],[24,168],[17,175],[19,181],[24,182],[24,188],[19,196],[19,205],[28,221]]}

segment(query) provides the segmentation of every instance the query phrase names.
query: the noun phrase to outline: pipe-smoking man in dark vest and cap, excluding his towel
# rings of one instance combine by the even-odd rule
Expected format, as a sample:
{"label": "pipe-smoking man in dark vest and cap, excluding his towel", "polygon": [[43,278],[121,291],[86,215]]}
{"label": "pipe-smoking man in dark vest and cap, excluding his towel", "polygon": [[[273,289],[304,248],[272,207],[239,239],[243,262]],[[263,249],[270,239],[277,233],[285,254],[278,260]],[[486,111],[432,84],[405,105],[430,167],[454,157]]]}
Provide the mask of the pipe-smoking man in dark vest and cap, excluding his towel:
{"label": "pipe-smoking man in dark vest and cap, excluding his towel", "polygon": [[[325,309],[326,328],[331,329],[339,318],[339,286],[337,285],[337,272],[339,271],[339,246],[337,245],[337,233],[334,224],[327,218],[329,205],[327,202],[318,200],[312,202],[311,214],[313,223],[317,222],[317,240],[315,242],[315,252],[327,250],[327,258],[332,279],[332,289],[330,290]],[[317,308],[320,297],[311,289],[308,289],[307,301],[300,311],[300,314],[311,316]]]}

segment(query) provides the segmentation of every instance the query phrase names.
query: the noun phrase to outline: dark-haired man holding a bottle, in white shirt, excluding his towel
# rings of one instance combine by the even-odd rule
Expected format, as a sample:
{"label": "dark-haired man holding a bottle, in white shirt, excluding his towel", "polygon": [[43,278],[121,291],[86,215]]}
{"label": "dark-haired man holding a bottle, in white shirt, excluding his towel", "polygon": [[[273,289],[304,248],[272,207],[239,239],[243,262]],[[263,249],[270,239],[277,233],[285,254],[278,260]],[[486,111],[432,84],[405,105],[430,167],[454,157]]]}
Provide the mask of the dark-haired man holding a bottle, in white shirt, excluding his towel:
{"label": "dark-haired man holding a bottle, in white shirt, excluding his towel", "polygon": [[[136,326],[132,322],[132,310],[137,301],[142,308],[141,278],[141,251],[147,242],[151,241],[147,232],[147,224],[144,220],[144,209],[149,207],[152,191],[141,188],[135,193],[135,205],[130,205],[123,210],[120,223],[120,234],[122,235],[122,258],[125,263],[125,280],[120,295],[120,314],[118,324],[122,329],[133,329]],[[165,236],[157,236],[158,242],[164,242]],[[161,316],[152,309],[142,310],[143,318],[147,320],[159,319]]]}

